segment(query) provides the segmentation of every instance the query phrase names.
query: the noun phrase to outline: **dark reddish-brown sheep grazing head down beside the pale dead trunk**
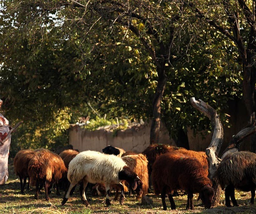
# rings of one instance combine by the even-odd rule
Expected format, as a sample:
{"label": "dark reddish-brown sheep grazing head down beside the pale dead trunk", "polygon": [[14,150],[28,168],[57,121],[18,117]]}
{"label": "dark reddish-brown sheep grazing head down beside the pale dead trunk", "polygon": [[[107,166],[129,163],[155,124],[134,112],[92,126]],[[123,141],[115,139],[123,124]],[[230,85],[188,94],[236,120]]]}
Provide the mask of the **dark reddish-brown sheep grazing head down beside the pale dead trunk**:
{"label": "dark reddish-brown sheep grazing head down beside the pale dead trunk", "polygon": [[187,193],[186,209],[194,209],[193,193],[199,193],[205,208],[211,207],[214,196],[212,182],[195,158],[177,151],[160,155],[153,164],[152,182],[155,194],[161,194],[164,210],[167,209],[165,194],[168,194],[171,209],[176,209],[172,193],[179,189]]}

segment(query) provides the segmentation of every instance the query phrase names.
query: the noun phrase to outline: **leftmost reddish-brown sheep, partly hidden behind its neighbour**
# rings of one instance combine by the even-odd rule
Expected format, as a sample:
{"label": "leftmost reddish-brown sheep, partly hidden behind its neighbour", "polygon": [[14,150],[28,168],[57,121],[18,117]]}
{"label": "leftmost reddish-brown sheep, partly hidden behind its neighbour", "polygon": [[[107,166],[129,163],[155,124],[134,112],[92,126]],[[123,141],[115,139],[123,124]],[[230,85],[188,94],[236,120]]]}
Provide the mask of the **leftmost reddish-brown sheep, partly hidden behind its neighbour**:
{"label": "leftmost reddish-brown sheep, partly hidden behind its neighbour", "polygon": [[[29,190],[29,183],[30,178],[28,176],[28,163],[33,157],[35,151],[31,149],[23,149],[17,152],[14,157],[14,172],[17,176],[20,177],[20,184],[21,184],[21,194],[24,194],[24,188],[28,178],[28,186],[27,190]],[[22,182],[23,180],[23,182]]]}

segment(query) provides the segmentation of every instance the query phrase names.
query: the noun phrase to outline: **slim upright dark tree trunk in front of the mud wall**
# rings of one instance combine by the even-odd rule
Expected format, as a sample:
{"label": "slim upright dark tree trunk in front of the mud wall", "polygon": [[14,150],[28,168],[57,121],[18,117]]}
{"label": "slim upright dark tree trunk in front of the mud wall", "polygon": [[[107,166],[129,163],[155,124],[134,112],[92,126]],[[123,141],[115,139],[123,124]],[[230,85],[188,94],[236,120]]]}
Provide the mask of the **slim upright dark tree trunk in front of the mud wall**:
{"label": "slim upright dark tree trunk in front of the mud wall", "polygon": [[160,125],[161,125],[161,100],[162,95],[164,94],[165,84],[166,84],[166,76],[164,68],[161,69],[158,73],[159,76],[158,85],[156,87],[155,98],[153,101],[153,118],[150,127],[150,144],[155,144],[159,142],[159,133],[160,133]]}

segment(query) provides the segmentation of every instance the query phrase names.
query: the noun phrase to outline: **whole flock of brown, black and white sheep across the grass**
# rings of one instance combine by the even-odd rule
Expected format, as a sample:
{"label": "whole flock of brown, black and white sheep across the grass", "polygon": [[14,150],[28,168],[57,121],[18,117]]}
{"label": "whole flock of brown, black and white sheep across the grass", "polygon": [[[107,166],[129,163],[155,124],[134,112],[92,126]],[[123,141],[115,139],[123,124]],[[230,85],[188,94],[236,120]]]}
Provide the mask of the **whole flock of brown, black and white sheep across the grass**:
{"label": "whole flock of brown, black and white sheep across the grass", "polygon": [[[53,185],[57,195],[59,188],[65,190],[62,201],[64,205],[74,188],[79,184],[82,202],[87,206],[88,183],[95,184],[92,189],[98,195],[106,195],[106,205],[110,203],[110,192],[115,190],[114,200],[121,196],[124,203],[124,192],[135,193],[136,198],[144,203],[152,203],[146,194],[149,189],[149,178],[154,193],[160,194],[163,209],[166,210],[166,195],[171,209],[176,209],[173,193],[183,190],[187,194],[186,209],[194,209],[193,194],[199,197],[205,208],[212,206],[214,189],[208,178],[209,163],[205,152],[195,152],[184,148],[153,144],[142,153],[125,152],[121,148],[107,146],[101,152],[67,149],[55,154],[47,149],[20,150],[14,158],[15,174],[20,177],[21,193],[24,193],[26,180],[36,186],[35,197],[44,187],[45,198]],[[234,206],[235,188],[251,191],[250,203],[254,204],[256,188],[256,154],[252,152],[234,152],[226,155],[220,162],[215,178],[222,189],[225,189],[225,205],[230,207],[230,198]]]}

